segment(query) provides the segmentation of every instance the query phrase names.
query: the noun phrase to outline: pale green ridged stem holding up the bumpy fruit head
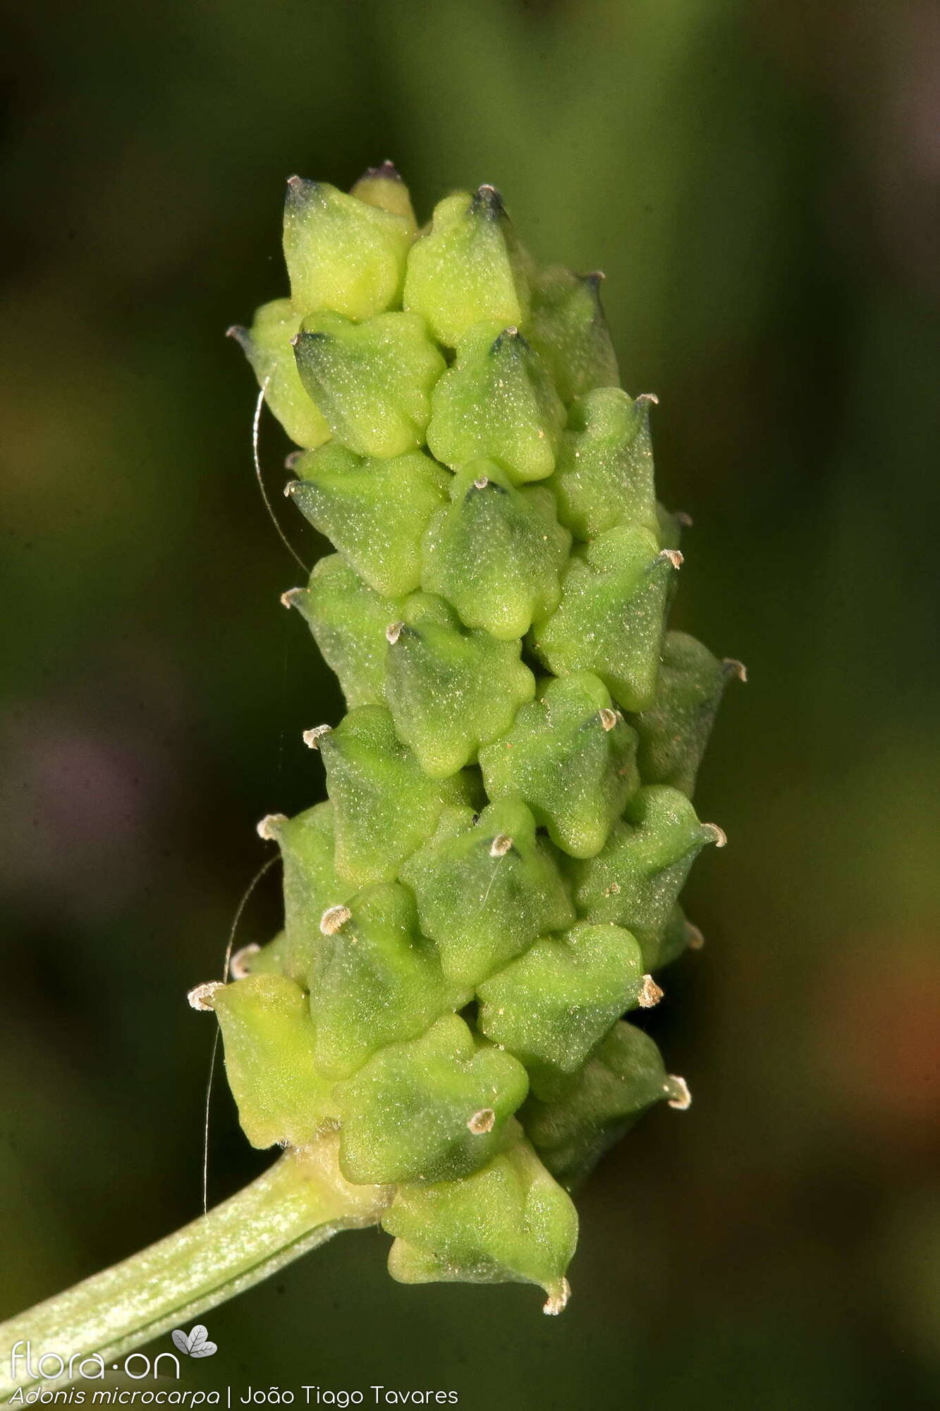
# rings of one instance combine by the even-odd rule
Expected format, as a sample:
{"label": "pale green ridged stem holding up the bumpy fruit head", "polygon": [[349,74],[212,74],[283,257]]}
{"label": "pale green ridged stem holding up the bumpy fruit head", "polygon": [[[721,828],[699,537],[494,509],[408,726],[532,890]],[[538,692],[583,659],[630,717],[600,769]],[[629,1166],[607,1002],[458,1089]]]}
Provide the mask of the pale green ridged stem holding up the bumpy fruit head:
{"label": "pale green ridged stem holding up the bumpy fruit head", "polygon": [[[233,1298],[343,1229],[373,1225],[388,1191],[350,1185],[336,1167],[336,1137],[288,1151],[264,1175],[120,1264],[37,1304],[0,1325],[0,1404],[17,1388],[66,1386],[69,1359],[99,1355],[106,1369],[141,1343]],[[34,1369],[42,1353],[65,1362],[62,1376],[30,1376],[11,1352],[30,1343]],[[47,1363],[54,1373],[55,1360]],[[14,1371],[20,1376],[14,1376]]]}

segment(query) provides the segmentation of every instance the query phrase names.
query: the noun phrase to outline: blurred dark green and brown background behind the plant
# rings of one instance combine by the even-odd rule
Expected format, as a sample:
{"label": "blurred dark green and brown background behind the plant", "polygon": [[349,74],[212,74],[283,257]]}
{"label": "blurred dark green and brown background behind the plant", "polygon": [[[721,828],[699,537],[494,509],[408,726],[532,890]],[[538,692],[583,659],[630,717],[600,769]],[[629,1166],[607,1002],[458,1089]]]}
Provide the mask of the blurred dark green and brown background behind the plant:
{"label": "blurred dark green and brown background behind the plant", "polygon": [[[574,1300],[401,1288],[347,1235],[210,1314],[193,1386],[469,1408],[940,1397],[940,11],[927,0],[40,0],[4,20],[0,1315],[200,1208],[207,1019],[261,814],[340,704],[253,480],[226,326],[282,181],[498,185],[601,268],[679,622],[747,662],[730,835],[652,1029],[687,1077],[580,1199]],[[275,508],[284,442],[263,426]],[[243,941],[277,924],[277,876]],[[224,1088],[210,1198],[267,1158]]]}

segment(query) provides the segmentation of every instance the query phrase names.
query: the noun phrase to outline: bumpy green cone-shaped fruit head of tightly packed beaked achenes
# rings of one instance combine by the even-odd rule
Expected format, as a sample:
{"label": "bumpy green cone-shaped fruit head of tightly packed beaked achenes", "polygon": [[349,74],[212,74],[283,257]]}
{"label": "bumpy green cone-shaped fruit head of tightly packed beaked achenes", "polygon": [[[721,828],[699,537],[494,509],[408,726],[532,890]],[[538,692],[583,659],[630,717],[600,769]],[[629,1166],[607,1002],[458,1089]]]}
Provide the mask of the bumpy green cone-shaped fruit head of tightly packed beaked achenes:
{"label": "bumpy green cone-shaped fruit head of tightly packed beaked achenes", "polygon": [[[567,1297],[570,1189],[680,1078],[624,1015],[700,934],[692,792],[725,680],[666,631],[682,516],[598,275],[541,268],[490,186],[418,233],[385,164],[288,183],[291,296],[233,333],[336,552],[284,595],[349,714],[329,799],[260,832],[284,931],[205,1003],[248,1140],[339,1129],[394,1191],[390,1268]],[[312,722],[313,724],[313,722]]]}

